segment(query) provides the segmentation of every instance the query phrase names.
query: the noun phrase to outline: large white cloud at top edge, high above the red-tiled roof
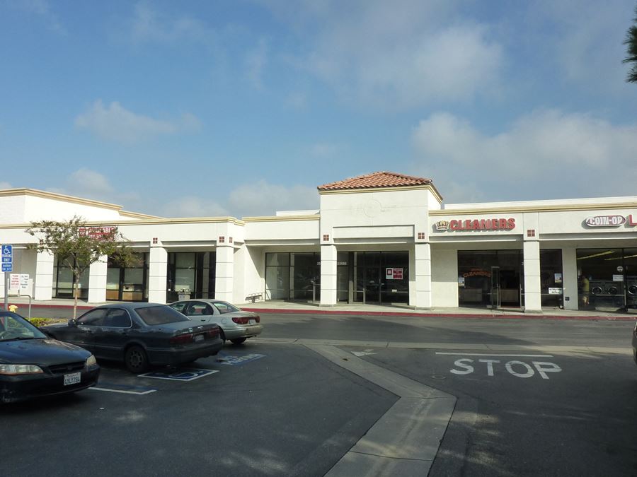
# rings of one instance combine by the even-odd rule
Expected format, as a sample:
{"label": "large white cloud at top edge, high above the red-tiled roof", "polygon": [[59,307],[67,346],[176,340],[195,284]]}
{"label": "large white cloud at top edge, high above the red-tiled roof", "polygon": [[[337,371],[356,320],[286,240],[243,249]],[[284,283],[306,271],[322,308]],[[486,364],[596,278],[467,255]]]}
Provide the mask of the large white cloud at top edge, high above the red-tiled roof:
{"label": "large white cloud at top edge, high above the red-tiled roof", "polygon": [[391,108],[497,90],[502,49],[452,1],[289,2],[270,7],[310,42],[306,67],[347,98]]}

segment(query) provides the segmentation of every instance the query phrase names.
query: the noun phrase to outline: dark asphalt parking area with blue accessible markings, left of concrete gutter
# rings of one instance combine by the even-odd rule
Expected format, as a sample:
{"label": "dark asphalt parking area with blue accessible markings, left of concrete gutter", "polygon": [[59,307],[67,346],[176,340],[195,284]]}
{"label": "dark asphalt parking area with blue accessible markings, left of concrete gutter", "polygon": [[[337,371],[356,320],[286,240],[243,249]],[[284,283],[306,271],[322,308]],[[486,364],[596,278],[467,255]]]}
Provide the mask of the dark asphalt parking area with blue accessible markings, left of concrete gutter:
{"label": "dark asphalt parking area with blue accessible markings, left of concrete gutter", "polygon": [[5,475],[323,476],[396,401],[304,346],[101,364],[98,389],[0,406]]}

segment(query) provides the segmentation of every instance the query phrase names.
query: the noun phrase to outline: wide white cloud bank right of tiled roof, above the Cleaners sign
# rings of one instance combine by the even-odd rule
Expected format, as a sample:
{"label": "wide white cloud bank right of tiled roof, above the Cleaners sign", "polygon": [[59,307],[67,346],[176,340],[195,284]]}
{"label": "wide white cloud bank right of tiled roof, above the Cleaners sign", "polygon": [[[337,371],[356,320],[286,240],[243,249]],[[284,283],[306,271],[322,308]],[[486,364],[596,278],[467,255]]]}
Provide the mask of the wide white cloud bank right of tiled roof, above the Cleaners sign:
{"label": "wide white cloud bank right of tiled roof, above the Cleaners sign", "polygon": [[487,135],[437,113],[412,139],[416,168],[452,201],[637,195],[636,124],[541,110]]}

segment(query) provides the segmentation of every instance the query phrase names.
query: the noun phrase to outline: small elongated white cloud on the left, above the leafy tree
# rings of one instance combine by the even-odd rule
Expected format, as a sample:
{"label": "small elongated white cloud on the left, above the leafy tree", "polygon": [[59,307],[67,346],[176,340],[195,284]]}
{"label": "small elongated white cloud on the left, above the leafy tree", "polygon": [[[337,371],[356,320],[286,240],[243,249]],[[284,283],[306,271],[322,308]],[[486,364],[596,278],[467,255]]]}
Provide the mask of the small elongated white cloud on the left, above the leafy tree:
{"label": "small elongated white cloud on the left, above the leafy tree", "polygon": [[180,119],[166,121],[136,114],[116,101],[104,107],[101,100],[94,102],[93,107],[76,117],[75,125],[92,131],[102,139],[122,143],[134,143],[153,136],[200,128],[199,120],[190,113],[183,114]]}

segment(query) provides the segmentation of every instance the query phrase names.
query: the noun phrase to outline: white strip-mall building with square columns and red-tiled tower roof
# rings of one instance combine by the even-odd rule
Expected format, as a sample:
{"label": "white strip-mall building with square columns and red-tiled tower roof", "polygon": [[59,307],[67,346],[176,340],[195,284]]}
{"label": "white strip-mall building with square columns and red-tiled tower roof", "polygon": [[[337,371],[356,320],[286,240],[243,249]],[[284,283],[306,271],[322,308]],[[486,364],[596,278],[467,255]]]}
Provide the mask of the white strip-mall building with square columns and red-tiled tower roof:
{"label": "white strip-mall building with square columns and red-tiled tower roof", "polygon": [[[102,257],[89,303],[219,298],[440,307],[637,307],[637,196],[444,204],[431,179],[374,172],[318,187],[319,209],[266,217],[160,218],[34,189],[0,190],[0,243],[21,293],[72,297],[72,276],[26,229],[79,216],[139,254]],[[9,294],[17,281],[11,281]],[[0,286],[4,296],[4,281]]]}

